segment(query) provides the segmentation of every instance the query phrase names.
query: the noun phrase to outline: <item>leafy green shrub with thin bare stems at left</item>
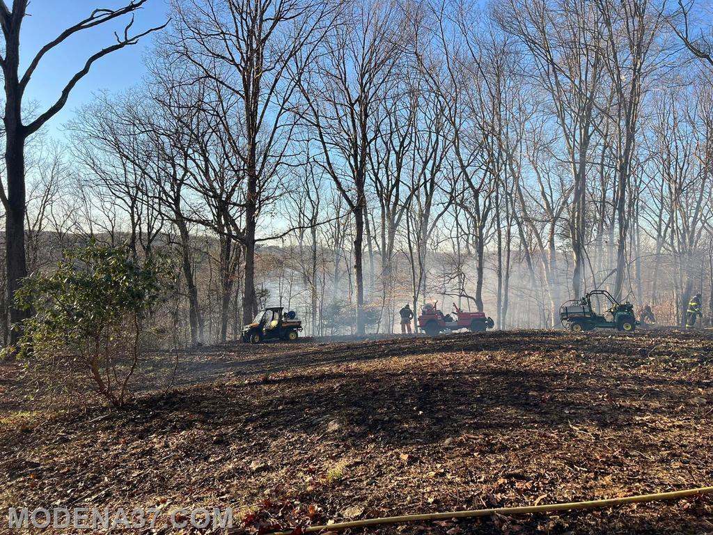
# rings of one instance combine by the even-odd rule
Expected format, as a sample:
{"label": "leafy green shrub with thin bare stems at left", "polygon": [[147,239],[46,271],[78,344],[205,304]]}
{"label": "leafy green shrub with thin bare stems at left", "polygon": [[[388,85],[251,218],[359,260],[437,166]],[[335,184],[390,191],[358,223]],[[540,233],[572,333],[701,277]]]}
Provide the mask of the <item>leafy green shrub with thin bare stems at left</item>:
{"label": "leafy green shrub with thin bare stems at left", "polygon": [[91,242],[66,251],[54,272],[26,277],[16,292],[16,304],[34,312],[22,322],[18,356],[52,379],[81,371],[121,407],[166,273],[162,258],[138,260],[126,247]]}

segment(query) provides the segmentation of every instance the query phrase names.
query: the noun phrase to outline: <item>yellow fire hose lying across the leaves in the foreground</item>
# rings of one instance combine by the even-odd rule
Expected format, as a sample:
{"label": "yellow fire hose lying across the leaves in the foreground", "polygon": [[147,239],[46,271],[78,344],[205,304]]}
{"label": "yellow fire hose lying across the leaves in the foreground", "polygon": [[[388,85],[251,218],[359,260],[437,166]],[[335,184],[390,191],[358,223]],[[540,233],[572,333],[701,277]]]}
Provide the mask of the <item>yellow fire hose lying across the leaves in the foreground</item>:
{"label": "yellow fire hose lying across the leaves in the foreground", "polygon": [[[316,531],[339,531],[349,528],[362,528],[365,526],[378,526],[381,524],[406,524],[406,522],[426,522],[434,520],[473,518],[476,516],[491,516],[501,514],[504,516],[512,514],[528,513],[551,513],[553,511],[573,511],[575,509],[598,509],[613,507],[625,504],[640,504],[645,501],[663,501],[686,498],[713,493],[713,486],[702,486],[699,489],[687,489],[682,491],[659,492],[658,494],[642,494],[640,496],[627,496],[625,498],[610,498],[591,501],[572,501],[568,504],[533,505],[525,507],[497,507],[495,509],[473,509],[471,511],[449,511],[445,513],[408,514],[404,516],[384,516],[377,519],[355,520],[351,522],[339,522],[327,526],[309,526],[302,529],[302,533],[314,533]],[[272,535],[291,535],[294,529],[288,531],[276,531]]]}

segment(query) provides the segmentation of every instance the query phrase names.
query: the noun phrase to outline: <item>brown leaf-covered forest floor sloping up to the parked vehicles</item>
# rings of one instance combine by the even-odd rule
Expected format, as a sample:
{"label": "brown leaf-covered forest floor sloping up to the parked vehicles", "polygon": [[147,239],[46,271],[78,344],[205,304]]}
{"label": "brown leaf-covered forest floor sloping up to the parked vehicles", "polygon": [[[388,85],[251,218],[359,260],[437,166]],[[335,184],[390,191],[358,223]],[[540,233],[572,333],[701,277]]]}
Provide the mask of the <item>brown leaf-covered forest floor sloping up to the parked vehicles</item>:
{"label": "brown leaf-covered forest floor sloping up to the parked vehicles", "polygon": [[[231,533],[255,533],[707,486],[712,371],[703,331],[302,340],[207,348],[182,357],[164,397],[51,414],[24,406],[21,371],[4,365],[0,506],[230,506],[240,510]],[[368,532],[703,534],[713,506]]]}

